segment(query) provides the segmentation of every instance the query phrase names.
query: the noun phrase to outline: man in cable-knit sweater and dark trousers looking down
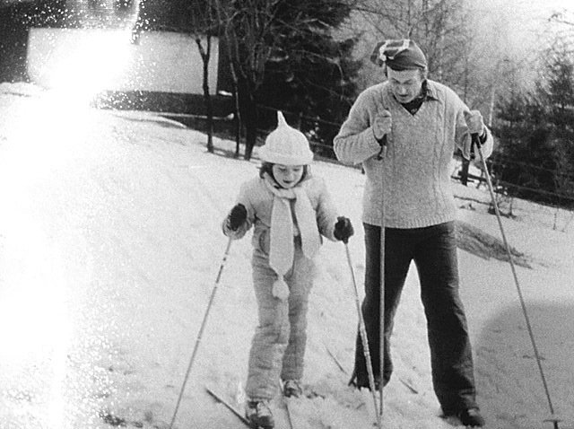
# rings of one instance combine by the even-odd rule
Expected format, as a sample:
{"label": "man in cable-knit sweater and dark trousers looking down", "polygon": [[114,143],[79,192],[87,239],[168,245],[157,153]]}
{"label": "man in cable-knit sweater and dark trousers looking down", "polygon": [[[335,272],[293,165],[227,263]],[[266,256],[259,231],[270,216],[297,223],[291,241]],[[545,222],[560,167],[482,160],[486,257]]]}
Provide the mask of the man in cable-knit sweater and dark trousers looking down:
{"label": "man in cable-knit sweater and dark trousers looking down", "polygon": [[[456,206],[449,163],[459,148],[473,152],[478,135],[484,156],[492,137],[480,112],[470,111],[447,86],[427,79],[427,61],[413,40],[379,43],[371,57],[384,66],[387,82],[361,92],[339,134],[340,161],[362,163],[366,246],[365,318],[376,385],[380,382],[381,227],[385,243],[385,345],[383,385],[393,365],[393,318],[411,264],[421,279],[427,318],[432,381],[445,416],[483,426],[476,404],[472,350],[458,294]],[[384,219],[383,219],[384,213]],[[352,384],[369,387],[361,339],[357,336]]]}

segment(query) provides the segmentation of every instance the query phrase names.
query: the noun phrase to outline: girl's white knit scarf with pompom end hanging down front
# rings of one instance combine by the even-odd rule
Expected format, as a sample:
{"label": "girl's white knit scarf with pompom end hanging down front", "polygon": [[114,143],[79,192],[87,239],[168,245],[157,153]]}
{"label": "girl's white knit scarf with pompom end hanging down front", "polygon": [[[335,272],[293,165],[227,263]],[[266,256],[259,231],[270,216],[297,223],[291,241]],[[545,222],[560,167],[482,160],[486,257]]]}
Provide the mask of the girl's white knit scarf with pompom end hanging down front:
{"label": "girl's white knit scarf with pompom end hanging down front", "polygon": [[274,194],[273,209],[271,212],[271,234],[269,250],[269,266],[277,274],[273,285],[275,297],[285,300],[289,296],[289,286],[284,276],[293,265],[293,217],[290,200],[295,200],[295,219],[301,236],[301,247],[307,258],[313,258],[321,244],[317,227],[317,214],[309,196],[303,187],[278,188],[268,174],[264,181],[267,188]]}

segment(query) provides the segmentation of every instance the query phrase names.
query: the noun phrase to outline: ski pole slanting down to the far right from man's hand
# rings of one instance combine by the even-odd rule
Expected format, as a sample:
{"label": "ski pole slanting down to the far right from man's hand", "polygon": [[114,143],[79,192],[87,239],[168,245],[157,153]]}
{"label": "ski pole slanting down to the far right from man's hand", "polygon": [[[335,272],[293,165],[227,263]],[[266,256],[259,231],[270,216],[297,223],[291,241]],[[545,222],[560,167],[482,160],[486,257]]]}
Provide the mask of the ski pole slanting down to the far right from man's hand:
{"label": "ski pole slanting down to the far right from man's hand", "polygon": [[548,390],[548,383],[546,382],[546,377],[544,376],[544,370],[542,368],[542,359],[540,357],[540,353],[538,352],[538,347],[536,346],[535,335],[532,329],[532,325],[530,323],[530,318],[528,317],[528,311],[526,310],[526,302],[524,301],[524,296],[522,295],[522,289],[520,288],[520,284],[518,283],[518,276],[517,276],[517,269],[514,266],[514,261],[512,259],[512,253],[510,252],[509,241],[506,239],[506,234],[504,233],[504,228],[502,227],[502,221],[500,216],[499,206],[496,202],[496,197],[494,196],[494,188],[492,187],[492,180],[491,175],[489,174],[488,167],[486,165],[486,161],[484,160],[483,148],[481,147],[479,138],[477,134],[472,135],[473,142],[472,145],[477,148],[478,153],[480,154],[481,158],[481,165],[484,171],[484,177],[486,178],[486,184],[488,185],[488,190],[491,194],[492,206],[494,206],[494,213],[496,214],[496,220],[499,223],[500,228],[500,235],[502,236],[502,241],[504,242],[504,248],[509,256],[509,264],[512,270],[512,276],[514,277],[514,283],[517,286],[517,293],[518,299],[520,301],[520,305],[522,307],[522,312],[524,314],[526,320],[526,328],[528,330],[528,335],[530,336],[530,342],[532,343],[532,348],[535,353],[536,363],[538,364],[538,371],[540,372],[540,377],[542,379],[542,383],[544,386],[544,392],[546,394],[546,399],[548,401],[548,407],[550,408],[551,418],[547,419],[546,421],[553,422],[554,429],[559,429],[558,422],[559,419],[554,416],[554,407],[552,405],[552,398],[550,397],[550,391]]}

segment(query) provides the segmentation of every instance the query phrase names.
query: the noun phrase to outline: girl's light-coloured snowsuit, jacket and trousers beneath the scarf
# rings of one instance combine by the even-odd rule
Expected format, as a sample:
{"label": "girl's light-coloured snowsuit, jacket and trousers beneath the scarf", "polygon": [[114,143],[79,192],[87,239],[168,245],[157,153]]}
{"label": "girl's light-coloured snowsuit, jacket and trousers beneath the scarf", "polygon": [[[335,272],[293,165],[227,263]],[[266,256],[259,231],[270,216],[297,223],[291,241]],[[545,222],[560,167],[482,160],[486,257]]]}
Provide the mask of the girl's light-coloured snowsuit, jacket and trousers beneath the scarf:
{"label": "girl's light-coloured snowsuit, jacket and trousers beneath the scarf", "polygon": [[[253,285],[257,298],[258,326],[249,353],[246,393],[251,399],[271,399],[282,380],[300,380],[307,341],[307,310],[309,292],[313,283],[314,263],[305,256],[301,246],[300,230],[290,199],[293,223],[293,262],[284,276],[289,287],[289,297],[282,300],[274,296],[273,287],[277,273],[269,265],[270,235],[274,193],[265,184],[270,178],[255,178],[244,183],[237,203],[247,208],[248,220],[235,232],[223,223],[225,235],[240,239],[254,226],[252,244]],[[325,182],[310,176],[297,187],[309,197],[315,214],[317,233],[335,241],[333,235],[336,213]],[[320,237],[317,237],[319,243]]]}

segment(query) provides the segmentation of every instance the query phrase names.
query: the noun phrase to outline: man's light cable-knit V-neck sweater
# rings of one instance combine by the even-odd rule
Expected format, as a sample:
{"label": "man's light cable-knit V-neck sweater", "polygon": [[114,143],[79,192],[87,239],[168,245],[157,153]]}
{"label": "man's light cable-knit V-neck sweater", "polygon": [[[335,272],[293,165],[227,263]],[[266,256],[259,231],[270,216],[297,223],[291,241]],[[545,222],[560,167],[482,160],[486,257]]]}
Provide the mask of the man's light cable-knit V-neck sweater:
{"label": "man's light cable-knit V-neck sweater", "polygon": [[[449,165],[455,148],[471,138],[464,117],[468,108],[447,86],[427,83],[427,98],[414,115],[396,101],[387,82],[371,86],[361,92],[335,136],[339,160],[362,163],[367,176],[364,223],[380,226],[383,208],[390,228],[420,228],[456,217]],[[371,125],[384,109],[391,112],[393,126],[385,156],[378,159],[381,146]],[[486,132],[483,154],[488,157],[492,136]]]}

